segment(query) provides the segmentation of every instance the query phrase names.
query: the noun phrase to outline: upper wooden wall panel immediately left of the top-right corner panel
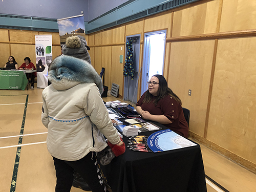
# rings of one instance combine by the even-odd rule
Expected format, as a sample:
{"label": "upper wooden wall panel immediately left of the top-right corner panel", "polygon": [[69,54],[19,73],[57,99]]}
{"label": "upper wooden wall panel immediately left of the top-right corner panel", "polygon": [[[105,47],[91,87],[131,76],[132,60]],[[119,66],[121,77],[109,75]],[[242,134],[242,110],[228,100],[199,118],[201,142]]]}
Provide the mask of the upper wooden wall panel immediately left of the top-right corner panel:
{"label": "upper wooden wall panel immediately left of the top-right corner panel", "polygon": [[215,33],[219,0],[174,12],[173,37]]}

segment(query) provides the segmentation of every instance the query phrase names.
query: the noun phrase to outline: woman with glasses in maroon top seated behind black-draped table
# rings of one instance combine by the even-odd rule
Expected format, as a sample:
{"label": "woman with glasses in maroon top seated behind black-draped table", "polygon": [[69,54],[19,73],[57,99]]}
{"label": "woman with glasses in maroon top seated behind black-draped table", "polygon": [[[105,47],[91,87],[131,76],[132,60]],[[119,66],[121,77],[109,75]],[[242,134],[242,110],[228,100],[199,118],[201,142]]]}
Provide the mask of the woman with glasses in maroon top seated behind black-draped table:
{"label": "woman with glasses in maroon top seated behind black-draped table", "polygon": [[168,88],[162,75],[153,75],[148,90],[136,103],[137,113],[143,119],[156,121],[175,133],[188,136],[188,125],[183,114],[180,98]]}

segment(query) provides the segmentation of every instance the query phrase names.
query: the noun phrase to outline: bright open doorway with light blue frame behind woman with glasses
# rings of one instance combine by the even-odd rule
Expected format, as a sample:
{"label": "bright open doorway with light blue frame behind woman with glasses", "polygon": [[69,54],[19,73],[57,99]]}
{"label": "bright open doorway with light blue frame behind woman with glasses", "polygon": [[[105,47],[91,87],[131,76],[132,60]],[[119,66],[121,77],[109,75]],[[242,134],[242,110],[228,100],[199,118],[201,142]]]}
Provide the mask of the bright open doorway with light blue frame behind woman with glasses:
{"label": "bright open doorway with light blue frame behind woman with glasses", "polygon": [[147,81],[153,75],[163,74],[165,40],[166,30],[145,33],[140,95],[147,90]]}

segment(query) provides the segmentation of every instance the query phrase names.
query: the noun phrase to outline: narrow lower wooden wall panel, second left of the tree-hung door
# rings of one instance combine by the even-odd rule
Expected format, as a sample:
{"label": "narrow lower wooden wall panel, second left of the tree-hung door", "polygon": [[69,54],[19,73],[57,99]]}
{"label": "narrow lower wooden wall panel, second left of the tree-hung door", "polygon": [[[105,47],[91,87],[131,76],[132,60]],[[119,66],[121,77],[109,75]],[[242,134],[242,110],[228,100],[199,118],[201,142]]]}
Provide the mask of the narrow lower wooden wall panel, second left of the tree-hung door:
{"label": "narrow lower wooden wall panel, second left of the tree-hung door", "polygon": [[[104,86],[111,89],[111,47],[102,47],[102,67],[105,68]],[[103,80],[103,79],[102,79]]]}

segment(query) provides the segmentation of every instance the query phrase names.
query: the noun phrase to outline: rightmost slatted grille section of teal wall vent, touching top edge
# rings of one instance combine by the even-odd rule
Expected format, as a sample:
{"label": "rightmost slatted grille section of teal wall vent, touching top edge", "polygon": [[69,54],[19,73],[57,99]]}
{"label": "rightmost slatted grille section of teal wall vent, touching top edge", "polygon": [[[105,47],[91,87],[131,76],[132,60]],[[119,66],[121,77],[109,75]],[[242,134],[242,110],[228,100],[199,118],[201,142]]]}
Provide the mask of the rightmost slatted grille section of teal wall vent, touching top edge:
{"label": "rightmost slatted grille section of teal wall vent, touching top edge", "polygon": [[154,14],[154,13],[158,13],[158,12],[161,12],[164,10],[172,9],[172,8],[180,6],[180,5],[184,5],[191,1],[195,1],[195,0],[174,0],[171,2],[164,3],[162,5],[147,9],[147,12],[148,12],[148,14]]}

